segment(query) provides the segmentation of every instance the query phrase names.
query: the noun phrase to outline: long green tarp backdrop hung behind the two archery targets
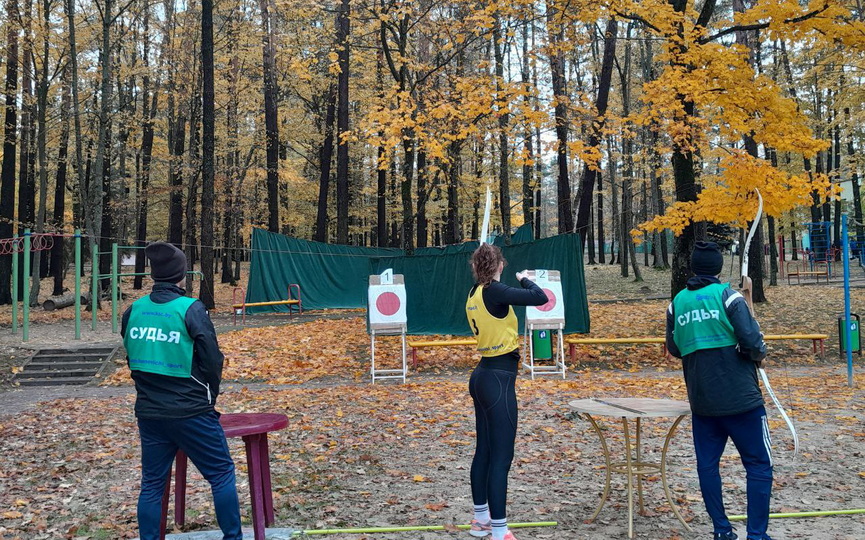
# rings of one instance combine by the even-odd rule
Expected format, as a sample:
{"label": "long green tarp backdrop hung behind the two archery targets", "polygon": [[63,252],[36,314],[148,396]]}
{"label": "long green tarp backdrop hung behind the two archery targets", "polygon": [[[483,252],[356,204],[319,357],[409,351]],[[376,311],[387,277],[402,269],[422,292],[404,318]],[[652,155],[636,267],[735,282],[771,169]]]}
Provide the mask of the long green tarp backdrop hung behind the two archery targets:
{"label": "long green tarp backdrop hung behind the two archery targets", "polygon": [[[530,236],[529,236],[530,238]],[[404,256],[399,249],[359,248],[309,242],[255,229],[247,302],[285,299],[289,283],[300,285],[304,309],[366,306],[368,276],[393,268],[406,283],[408,333],[469,335],[465,302],[472,279],[469,249]],[[427,251],[429,252],[429,251]],[[514,287],[524,269],[558,270],[565,296],[565,332],[587,333],[589,310],[579,237],[563,234],[503,246],[508,265],[502,281]],[[286,306],[249,308],[287,311]],[[515,308],[522,331],[525,308]]]}

